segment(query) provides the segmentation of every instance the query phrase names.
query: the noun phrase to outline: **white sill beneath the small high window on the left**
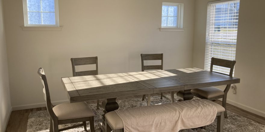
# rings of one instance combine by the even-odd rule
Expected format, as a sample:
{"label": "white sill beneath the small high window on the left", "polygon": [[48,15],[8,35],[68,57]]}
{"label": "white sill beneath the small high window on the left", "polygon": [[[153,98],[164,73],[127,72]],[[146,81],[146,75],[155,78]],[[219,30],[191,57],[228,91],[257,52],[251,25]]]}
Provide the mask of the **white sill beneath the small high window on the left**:
{"label": "white sill beneath the small high window on the left", "polygon": [[23,31],[62,31],[63,27],[48,27],[48,26],[22,26]]}

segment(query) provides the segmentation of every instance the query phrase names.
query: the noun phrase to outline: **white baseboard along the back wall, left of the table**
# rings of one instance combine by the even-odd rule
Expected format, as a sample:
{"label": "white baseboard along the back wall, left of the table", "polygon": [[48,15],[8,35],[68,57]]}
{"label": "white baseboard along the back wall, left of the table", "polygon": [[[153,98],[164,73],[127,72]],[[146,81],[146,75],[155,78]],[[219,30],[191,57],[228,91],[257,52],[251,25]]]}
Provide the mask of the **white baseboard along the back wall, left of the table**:
{"label": "white baseboard along the back wall, left of the table", "polygon": [[[69,102],[69,100],[62,100],[62,101],[52,101],[53,105],[58,105],[62,103]],[[13,106],[12,110],[25,110],[25,109],[32,109],[32,108],[39,108],[39,107],[46,107],[46,103],[35,103],[35,104],[25,104],[25,105],[17,105]]]}

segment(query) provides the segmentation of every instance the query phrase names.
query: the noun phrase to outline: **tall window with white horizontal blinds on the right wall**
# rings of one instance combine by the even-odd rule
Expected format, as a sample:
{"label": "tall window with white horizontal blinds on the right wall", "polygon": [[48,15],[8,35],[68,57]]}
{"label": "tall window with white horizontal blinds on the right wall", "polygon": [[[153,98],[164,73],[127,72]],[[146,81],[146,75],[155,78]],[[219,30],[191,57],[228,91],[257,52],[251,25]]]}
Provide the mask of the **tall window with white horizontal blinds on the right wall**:
{"label": "tall window with white horizontal blinds on the right wall", "polygon": [[[210,70],[211,58],[235,60],[239,0],[209,2],[204,69]],[[230,69],[214,66],[213,71],[229,74]]]}

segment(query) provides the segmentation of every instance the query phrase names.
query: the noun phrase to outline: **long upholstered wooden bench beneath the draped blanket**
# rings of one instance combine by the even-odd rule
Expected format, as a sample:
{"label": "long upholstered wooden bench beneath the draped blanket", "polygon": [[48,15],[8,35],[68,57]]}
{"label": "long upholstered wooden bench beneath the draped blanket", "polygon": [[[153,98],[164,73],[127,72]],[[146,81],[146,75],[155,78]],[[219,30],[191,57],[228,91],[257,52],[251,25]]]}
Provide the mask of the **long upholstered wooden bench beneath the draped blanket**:
{"label": "long upholstered wooden bench beneath the draped blanket", "polygon": [[[225,108],[212,101],[208,101],[206,99],[202,99],[202,100],[209,102],[210,104],[214,105],[217,108],[217,132],[222,132]],[[115,111],[106,113],[105,117],[106,117],[106,124],[107,124],[106,132],[111,132],[111,130],[113,130],[113,132],[123,132],[123,121]]]}

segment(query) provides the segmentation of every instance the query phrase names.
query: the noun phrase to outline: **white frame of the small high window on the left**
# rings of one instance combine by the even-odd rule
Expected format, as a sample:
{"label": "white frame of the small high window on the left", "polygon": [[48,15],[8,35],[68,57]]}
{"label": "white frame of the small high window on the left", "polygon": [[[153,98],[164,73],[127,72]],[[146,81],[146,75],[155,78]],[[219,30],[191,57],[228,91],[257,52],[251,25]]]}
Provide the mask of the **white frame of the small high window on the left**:
{"label": "white frame of the small high window on the left", "polygon": [[59,27],[58,0],[54,0],[55,24],[29,24],[27,0],[23,0],[24,26],[25,27]]}

